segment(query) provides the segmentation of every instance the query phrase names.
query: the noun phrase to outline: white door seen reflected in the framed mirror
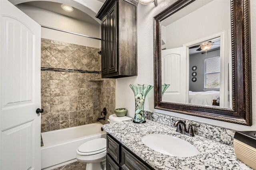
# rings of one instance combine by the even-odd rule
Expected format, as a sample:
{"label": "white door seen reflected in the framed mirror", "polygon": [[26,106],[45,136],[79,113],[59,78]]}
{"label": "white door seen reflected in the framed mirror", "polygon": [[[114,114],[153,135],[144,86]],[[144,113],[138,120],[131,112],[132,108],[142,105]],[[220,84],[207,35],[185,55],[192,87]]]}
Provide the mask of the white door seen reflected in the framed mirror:
{"label": "white door seen reflected in the framed mirror", "polygon": [[162,101],[187,102],[186,47],[162,50],[162,84],[170,84]]}

